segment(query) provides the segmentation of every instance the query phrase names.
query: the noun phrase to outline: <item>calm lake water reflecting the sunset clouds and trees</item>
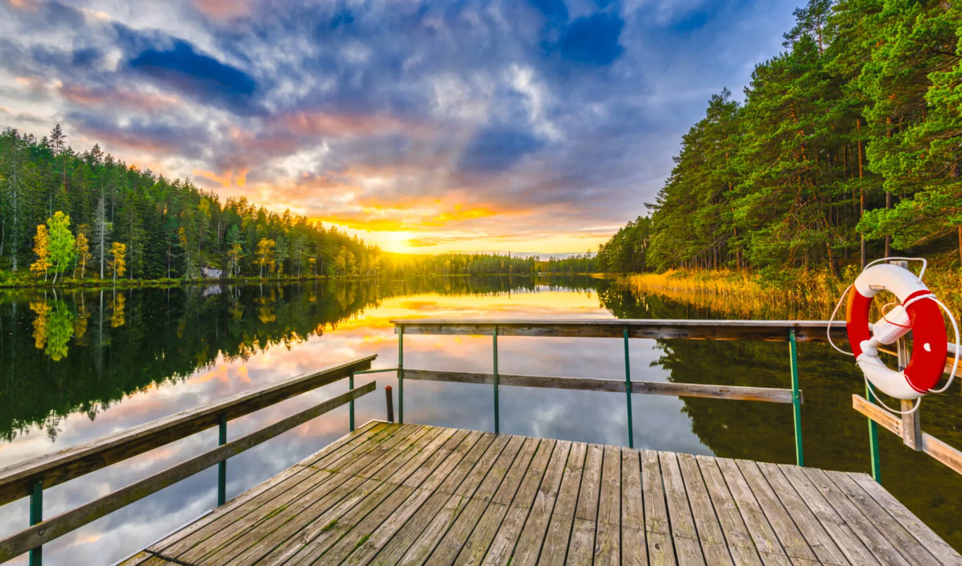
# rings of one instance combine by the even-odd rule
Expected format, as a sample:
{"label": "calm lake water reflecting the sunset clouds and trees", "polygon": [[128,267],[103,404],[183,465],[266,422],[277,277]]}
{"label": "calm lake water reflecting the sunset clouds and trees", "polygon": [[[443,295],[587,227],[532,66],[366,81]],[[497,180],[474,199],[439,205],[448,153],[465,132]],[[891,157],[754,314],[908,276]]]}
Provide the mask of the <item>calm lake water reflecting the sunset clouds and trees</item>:
{"label": "calm lake water reflecting the sunset clouds and trees", "polygon": [[[297,373],[376,353],[396,364],[392,318],[722,318],[605,281],[451,278],[302,285],[211,286],[125,292],[0,294],[0,467],[139,425]],[[409,368],[490,372],[491,338],[409,336]],[[499,338],[502,373],[623,377],[620,340]],[[633,340],[632,377],[650,381],[788,387],[784,344]],[[866,421],[851,408],[861,376],[848,358],[799,346],[805,461],[869,471]],[[380,389],[357,403],[357,423],[384,418]],[[229,425],[229,438],[341,394],[338,383]],[[620,394],[502,388],[501,431],[627,443]],[[637,447],[794,463],[789,405],[635,396]],[[958,388],[925,399],[924,429],[962,446]],[[411,423],[494,429],[491,387],[408,381]],[[228,463],[238,495],[347,431],[347,409],[301,425]],[[883,484],[962,548],[962,478],[879,432]],[[142,454],[44,492],[52,516],[216,445],[216,431]],[[111,563],[215,506],[215,468],[44,547],[47,564]],[[26,500],[0,507],[0,535],[28,523]],[[21,558],[18,563],[25,563]],[[17,562],[15,562],[17,563]]]}

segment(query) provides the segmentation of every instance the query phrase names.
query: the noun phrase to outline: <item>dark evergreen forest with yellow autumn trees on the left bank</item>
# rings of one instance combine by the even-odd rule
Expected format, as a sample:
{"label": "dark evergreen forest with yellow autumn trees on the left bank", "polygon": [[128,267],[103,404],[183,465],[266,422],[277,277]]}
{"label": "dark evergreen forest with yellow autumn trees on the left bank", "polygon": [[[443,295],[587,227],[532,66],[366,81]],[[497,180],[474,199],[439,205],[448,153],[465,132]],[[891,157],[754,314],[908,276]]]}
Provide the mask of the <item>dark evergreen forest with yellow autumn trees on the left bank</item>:
{"label": "dark evergreen forest with yellow autumn trees on the left bank", "polygon": [[0,134],[0,270],[28,266],[44,279],[374,276],[380,251],[289,211],[221,203],[99,145],[77,153],[58,125],[40,139]]}

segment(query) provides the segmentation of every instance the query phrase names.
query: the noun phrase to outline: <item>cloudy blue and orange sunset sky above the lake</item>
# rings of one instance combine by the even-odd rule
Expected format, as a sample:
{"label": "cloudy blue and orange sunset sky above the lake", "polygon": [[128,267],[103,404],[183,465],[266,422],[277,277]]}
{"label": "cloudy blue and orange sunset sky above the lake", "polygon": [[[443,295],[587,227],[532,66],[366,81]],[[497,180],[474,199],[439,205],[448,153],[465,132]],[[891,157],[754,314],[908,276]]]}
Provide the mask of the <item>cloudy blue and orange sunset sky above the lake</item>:
{"label": "cloudy blue and orange sunset sky above the lake", "polygon": [[797,3],[0,0],[0,126],[391,251],[584,251]]}

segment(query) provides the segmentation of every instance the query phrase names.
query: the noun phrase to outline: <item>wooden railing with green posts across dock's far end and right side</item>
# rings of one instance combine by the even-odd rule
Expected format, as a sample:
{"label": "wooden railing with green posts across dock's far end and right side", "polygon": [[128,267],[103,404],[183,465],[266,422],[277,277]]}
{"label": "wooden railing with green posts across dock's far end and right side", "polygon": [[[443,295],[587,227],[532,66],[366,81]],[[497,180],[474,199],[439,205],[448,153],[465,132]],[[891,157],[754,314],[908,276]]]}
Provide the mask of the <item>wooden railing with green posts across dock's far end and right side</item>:
{"label": "wooden railing with green posts across dock's far end and right side", "polygon": [[[798,342],[827,342],[827,321],[698,321],[666,319],[602,319],[602,320],[497,320],[497,319],[396,319],[394,332],[397,334],[397,368],[378,370],[397,372],[397,414],[398,422],[404,422],[404,380],[424,379],[432,381],[453,381],[459,383],[485,383],[493,386],[494,392],[494,431],[498,432],[499,402],[498,387],[501,385],[519,387],[547,387],[555,389],[577,389],[583,391],[623,392],[628,423],[628,446],[634,448],[632,429],[631,394],[671,395],[677,397],[701,397],[713,399],[758,400],[791,403],[795,428],[796,462],[804,465],[801,438],[802,392],[798,386]],[[846,340],[846,323],[832,322],[832,340]],[[455,336],[491,336],[493,347],[493,373],[438,372],[415,370],[404,367],[404,336],[410,334],[433,334]],[[542,375],[512,375],[498,373],[497,338],[499,336],[536,336],[536,337],[577,337],[577,338],[619,338],[624,342],[624,379],[596,379],[584,377],[561,377]],[[749,340],[788,343],[788,380],[790,388],[737,387],[723,385],[704,385],[696,383],[671,383],[633,381],[628,340],[648,338],[659,340]],[[899,367],[908,364],[907,338],[899,341],[897,350],[885,350],[898,355]],[[946,373],[951,370],[955,355],[954,347],[949,345],[946,360]],[[840,358],[841,363],[848,360]],[[922,431],[921,411],[912,415],[896,417],[885,411],[873,401],[871,392],[866,388],[866,398],[852,395],[853,407],[868,417],[869,450],[872,459],[872,475],[881,482],[881,465],[878,453],[877,425],[896,433],[906,446],[923,450],[939,462],[962,474],[962,451],[950,447],[945,442]],[[904,401],[903,407],[911,405]],[[904,409],[903,409],[904,410]],[[877,425],[876,425],[877,424]]]}

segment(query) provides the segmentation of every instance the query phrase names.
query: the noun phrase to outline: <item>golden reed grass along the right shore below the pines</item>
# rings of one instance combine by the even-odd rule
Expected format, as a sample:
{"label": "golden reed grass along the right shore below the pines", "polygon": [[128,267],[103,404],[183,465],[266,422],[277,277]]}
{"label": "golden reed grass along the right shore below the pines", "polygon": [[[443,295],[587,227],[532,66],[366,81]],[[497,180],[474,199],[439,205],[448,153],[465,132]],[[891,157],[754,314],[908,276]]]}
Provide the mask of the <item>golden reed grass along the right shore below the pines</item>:
{"label": "golden reed grass along the right shore below the pines", "polygon": [[[776,285],[746,270],[670,270],[633,274],[622,282],[635,293],[693,304],[728,319],[826,320],[857,275],[857,269],[846,270],[841,279],[808,271],[791,278],[791,284]],[[956,320],[962,318],[962,271],[929,268],[925,284]],[[879,304],[875,301],[874,309]],[[845,313],[841,316],[844,319]]]}

